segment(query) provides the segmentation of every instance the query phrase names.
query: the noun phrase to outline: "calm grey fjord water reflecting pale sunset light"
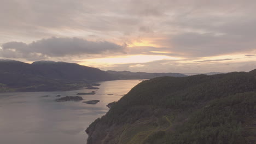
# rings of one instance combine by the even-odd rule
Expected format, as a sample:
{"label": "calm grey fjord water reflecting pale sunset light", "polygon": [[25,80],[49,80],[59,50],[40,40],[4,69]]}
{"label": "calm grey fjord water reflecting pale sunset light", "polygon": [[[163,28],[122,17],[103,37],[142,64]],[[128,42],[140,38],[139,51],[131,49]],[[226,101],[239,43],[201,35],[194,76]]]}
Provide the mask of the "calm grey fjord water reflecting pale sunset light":
{"label": "calm grey fjord water reflecting pale sunset light", "polygon": [[[66,92],[0,93],[0,143],[84,144],[85,129],[137,85],[139,80],[99,82],[100,89],[79,89]],[[100,100],[96,105],[82,101],[57,103],[56,95],[74,96],[80,92],[96,91],[95,95],[80,95],[83,101]]]}

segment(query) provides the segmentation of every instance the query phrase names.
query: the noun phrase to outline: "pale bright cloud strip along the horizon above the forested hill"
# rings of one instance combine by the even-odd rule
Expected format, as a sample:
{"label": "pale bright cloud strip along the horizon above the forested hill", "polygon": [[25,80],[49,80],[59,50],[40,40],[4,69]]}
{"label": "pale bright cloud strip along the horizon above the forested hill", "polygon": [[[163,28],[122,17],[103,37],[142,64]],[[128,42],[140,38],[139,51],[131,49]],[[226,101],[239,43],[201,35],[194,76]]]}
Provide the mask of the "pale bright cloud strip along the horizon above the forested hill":
{"label": "pale bright cloud strip along the horizon above the forested hill", "polygon": [[[141,65],[143,67],[130,67],[130,65]],[[222,73],[228,73],[230,71],[251,71],[256,68],[256,61],[244,61],[244,62],[225,62],[222,63],[191,63],[181,62],[175,60],[161,60],[148,63],[130,63],[130,64],[118,64],[113,67],[104,67],[104,70],[116,70],[123,71],[128,70],[132,72],[146,71],[148,73],[210,73],[213,71],[220,71]]]}

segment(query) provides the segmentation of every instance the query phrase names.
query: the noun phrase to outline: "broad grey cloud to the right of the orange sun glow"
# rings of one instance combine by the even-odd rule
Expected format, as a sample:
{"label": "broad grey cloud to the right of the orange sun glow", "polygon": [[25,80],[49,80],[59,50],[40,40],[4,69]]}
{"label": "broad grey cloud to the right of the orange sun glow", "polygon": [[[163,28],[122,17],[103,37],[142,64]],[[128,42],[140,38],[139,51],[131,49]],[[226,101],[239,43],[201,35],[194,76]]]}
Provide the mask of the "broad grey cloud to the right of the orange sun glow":
{"label": "broad grey cloud to the right of the orange sun glow", "polygon": [[[208,57],[255,50],[256,41],[241,35],[184,32],[169,35],[159,41],[171,53],[184,57]],[[255,35],[256,39],[256,35]]]}

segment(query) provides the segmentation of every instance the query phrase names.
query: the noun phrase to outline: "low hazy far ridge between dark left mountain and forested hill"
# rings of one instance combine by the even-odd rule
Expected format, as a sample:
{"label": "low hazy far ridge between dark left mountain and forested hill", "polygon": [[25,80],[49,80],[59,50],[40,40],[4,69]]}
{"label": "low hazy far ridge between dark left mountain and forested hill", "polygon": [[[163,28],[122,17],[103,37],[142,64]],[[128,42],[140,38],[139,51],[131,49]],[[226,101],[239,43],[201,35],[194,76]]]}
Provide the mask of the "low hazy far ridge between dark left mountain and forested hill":
{"label": "low hazy far ridge between dark left mountain and forested hill", "polygon": [[179,73],[144,73],[137,72],[132,73],[131,71],[113,71],[108,70],[107,73],[114,75],[117,79],[120,80],[131,80],[131,79],[153,79],[160,76],[173,76],[173,77],[184,77],[187,75]]}

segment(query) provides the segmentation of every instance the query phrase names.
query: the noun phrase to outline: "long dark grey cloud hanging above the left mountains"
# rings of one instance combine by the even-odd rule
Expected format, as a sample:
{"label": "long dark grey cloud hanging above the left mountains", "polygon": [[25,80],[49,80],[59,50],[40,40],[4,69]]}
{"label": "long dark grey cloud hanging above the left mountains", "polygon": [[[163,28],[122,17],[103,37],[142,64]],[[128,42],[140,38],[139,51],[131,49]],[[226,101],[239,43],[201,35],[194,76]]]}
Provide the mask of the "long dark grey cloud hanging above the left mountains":
{"label": "long dark grey cloud hanging above the left mountains", "polygon": [[108,41],[88,41],[80,38],[49,38],[33,41],[30,44],[12,41],[2,44],[0,57],[26,58],[34,61],[48,57],[65,57],[123,53],[124,46]]}

